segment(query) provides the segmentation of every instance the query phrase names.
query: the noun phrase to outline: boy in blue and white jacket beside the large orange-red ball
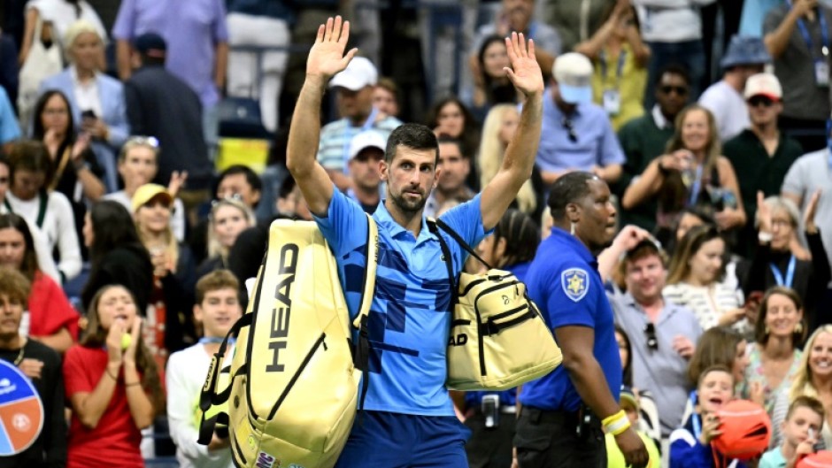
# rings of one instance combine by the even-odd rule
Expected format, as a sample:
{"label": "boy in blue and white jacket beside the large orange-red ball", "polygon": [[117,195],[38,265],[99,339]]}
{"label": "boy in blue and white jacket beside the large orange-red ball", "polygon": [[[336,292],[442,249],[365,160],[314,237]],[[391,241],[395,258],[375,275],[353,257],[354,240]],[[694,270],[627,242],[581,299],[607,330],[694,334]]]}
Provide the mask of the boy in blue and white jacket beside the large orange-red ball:
{"label": "boy in blue and white jacket beside the large orange-red ball", "polygon": [[725,460],[711,447],[711,441],[721,433],[716,411],[733,399],[735,384],[731,370],[724,365],[713,365],[700,374],[694,414],[670,434],[670,468],[713,467],[717,460],[719,466],[744,466]]}

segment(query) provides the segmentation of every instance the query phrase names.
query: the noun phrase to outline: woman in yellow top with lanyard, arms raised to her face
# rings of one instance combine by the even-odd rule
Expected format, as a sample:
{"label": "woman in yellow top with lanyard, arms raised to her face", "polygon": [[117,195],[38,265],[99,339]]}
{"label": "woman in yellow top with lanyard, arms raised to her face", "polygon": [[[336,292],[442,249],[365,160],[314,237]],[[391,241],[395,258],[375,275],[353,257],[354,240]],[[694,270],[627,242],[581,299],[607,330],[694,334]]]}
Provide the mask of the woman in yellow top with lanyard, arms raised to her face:
{"label": "woman in yellow top with lanyard, arms raised to her face", "polygon": [[604,107],[612,128],[618,131],[643,115],[650,48],[642,41],[636,9],[629,2],[612,6],[604,26],[575,51],[594,62],[593,101]]}

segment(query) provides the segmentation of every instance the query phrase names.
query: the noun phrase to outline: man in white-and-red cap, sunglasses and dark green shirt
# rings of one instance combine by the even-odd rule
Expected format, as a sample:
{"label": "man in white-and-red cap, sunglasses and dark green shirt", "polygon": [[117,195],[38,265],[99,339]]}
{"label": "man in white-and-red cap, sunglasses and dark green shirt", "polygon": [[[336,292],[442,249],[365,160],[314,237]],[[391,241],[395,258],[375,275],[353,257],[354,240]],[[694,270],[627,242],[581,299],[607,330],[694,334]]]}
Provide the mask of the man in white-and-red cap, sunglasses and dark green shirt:
{"label": "man in white-and-red cap, sunglasses and dark green shirt", "polygon": [[[757,192],[764,196],[780,194],[782,181],[791,165],[803,154],[797,140],[783,134],[777,127],[782,112],[782,88],[772,73],[758,73],[745,83],[743,93],[751,126],[725,143],[722,148],[731,165],[742,168],[736,180],[743,196],[746,213],[757,212]],[[745,239],[753,239],[754,226],[744,227]],[[750,255],[755,242],[743,242]]]}

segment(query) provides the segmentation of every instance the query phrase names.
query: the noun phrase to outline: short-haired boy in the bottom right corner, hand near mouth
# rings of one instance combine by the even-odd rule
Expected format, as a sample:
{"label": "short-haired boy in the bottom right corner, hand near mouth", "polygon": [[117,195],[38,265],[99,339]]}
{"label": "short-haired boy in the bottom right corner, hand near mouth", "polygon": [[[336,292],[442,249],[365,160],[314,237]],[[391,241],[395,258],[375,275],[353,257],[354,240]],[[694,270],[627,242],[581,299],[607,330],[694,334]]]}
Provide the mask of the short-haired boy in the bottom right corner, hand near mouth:
{"label": "short-haired boy in the bottom right corner, hand near mouth", "polygon": [[814,453],[823,418],[823,403],[806,395],[795,398],[782,422],[782,445],[768,450],[760,458],[759,468],[795,468],[801,456]]}

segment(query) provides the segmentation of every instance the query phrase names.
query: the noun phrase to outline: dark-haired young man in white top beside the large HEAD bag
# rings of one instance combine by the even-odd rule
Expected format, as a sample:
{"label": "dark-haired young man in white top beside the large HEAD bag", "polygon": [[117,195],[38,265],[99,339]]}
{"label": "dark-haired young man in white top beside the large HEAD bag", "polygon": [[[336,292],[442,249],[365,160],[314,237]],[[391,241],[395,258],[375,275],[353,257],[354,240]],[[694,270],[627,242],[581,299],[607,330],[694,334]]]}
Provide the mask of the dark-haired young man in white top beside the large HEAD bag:
{"label": "dark-haired young man in white top beside the large HEAD bag", "polygon": [[[167,418],[171,438],[176,444],[176,459],[181,468],[228,468],[231,463],[227,429],[215,429],[208,446],[199,445],[198,410],[200,390],[220,342],[243,315],[239,299],[240,284],[227,270],[217,270],[196,282],[194,318],[202,325],[203,336],[195,345],[177,351],[167,363]],[[234,356],[234,341],[229,341],[225,366]]]}

